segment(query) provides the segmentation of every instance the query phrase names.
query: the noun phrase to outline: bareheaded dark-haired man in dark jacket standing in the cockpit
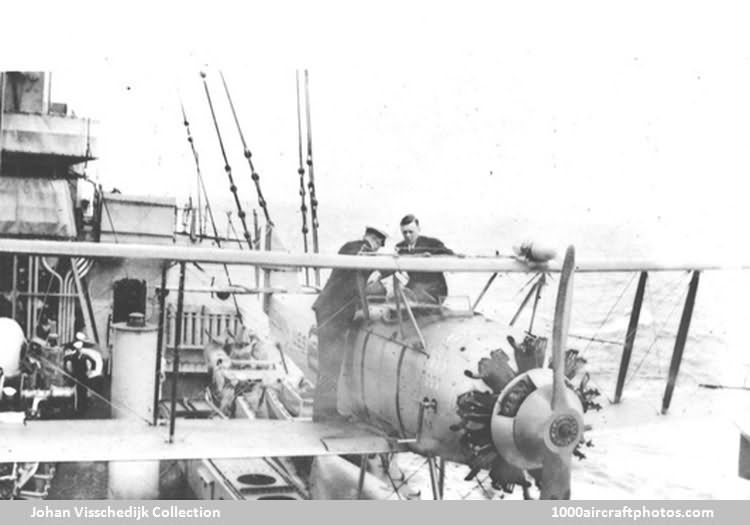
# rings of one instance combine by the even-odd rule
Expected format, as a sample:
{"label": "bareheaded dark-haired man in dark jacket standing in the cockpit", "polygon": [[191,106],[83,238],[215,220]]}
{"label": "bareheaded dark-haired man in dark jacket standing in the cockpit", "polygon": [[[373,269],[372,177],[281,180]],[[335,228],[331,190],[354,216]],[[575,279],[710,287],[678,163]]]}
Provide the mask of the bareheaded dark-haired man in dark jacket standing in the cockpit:
{"label": "bareheaded dark-haired man in dark jacket standing in the cockpit", "polygon": [[[401,235],[404,240],[396,244],[399,255],[453,255],[453,250],[440,239],[422,235],[419,219],[412,214],[401,219]],[[406,289],[407,296],[418,302],[442,303],[448,296],[448,284],[442,272],[409,272]]]}

